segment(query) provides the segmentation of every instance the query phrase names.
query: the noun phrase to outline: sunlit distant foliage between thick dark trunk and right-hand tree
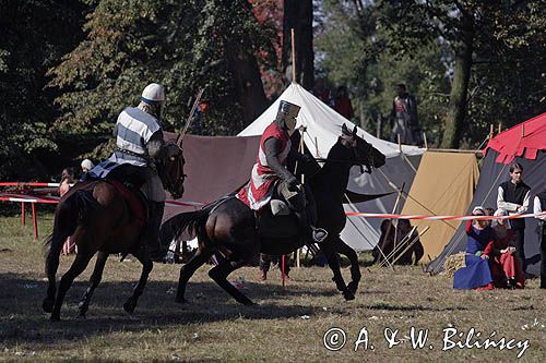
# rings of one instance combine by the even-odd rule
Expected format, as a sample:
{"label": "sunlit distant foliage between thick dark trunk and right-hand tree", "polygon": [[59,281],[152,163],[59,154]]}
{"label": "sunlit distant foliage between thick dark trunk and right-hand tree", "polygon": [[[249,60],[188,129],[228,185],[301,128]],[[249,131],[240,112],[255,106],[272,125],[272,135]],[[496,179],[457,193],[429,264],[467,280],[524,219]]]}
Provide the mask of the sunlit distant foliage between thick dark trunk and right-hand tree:
{"label": "sunlit distant foliage between thick dark trunk and right-hand tree", "polygon": [[[376,134],[378,116],[389,116],[394,87],[404,83],[417,99],[423,129],[432,142],[438,142],[449,96],[440,44],[431,39],[412,52],[393,55],[388,51],[390,35],[377,23],[371,7],[357,10],[346,1],[328,0],[324,12],[323,31],[316,41],[318,64],[330,84],[349,88],[356,114],[364,116],[363,126]],[[388,123],[383,123],[381,134],[389,138]]]}

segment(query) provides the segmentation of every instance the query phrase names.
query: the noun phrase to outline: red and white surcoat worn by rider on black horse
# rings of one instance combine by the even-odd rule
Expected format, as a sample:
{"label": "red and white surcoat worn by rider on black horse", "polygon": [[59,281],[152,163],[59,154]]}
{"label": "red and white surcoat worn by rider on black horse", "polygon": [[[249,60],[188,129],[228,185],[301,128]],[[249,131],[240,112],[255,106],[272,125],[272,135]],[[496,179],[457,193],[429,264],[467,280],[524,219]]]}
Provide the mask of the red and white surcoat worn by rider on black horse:
{"label": "red and white surcoat worn by rider on black horse", "polygon": [[290,136],[286,130],[280,128],[275,122],[272,122],[263,132],[262,140],[260,141],[260,150],[258,160],[252,168],[250,182],[245,185],[237,198],[248,205],[252,210],[260,210],[266,205],[273,195],[274,186],[280,180],[278,176],[268,166],[265,157],[265,141],[274,137],[281,142],[281,152],[278,154],[278,161],[286,167],[286,158],[290,152]]}

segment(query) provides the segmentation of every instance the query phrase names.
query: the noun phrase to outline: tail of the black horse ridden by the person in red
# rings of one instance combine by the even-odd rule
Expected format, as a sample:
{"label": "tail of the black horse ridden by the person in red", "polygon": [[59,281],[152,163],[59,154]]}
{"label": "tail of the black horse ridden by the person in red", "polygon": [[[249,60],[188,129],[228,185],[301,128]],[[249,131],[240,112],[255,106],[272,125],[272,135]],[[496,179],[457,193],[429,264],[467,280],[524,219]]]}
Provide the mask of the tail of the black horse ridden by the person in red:
{"label": "tail of the black horse ridden by the person in red", "polygon": [[203,229],[213,207],[205,207],[195,211],[181,213],[162,225],[159,238],[163,245],[168,245],[173,240],[178,240],[182,234],[192,239]]}

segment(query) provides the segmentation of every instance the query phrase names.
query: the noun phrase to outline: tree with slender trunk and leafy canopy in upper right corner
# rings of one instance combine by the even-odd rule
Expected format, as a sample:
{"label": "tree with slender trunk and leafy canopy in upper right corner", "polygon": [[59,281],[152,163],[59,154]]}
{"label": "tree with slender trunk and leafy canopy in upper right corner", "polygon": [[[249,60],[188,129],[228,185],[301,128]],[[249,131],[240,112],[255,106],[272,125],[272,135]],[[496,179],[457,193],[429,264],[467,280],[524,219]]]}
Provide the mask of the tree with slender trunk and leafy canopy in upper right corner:
{"label": "tree with slender trunk and leafy canopy in upper right corner", "polygon": [[[538,7],[538,8],[536,8]],[[536,34],[529,15],[541,22],[533,1],[378,1],[381,24],[390,32],[392,49],[404,53],[424,39],[441,38],[454,57],[453,80],[442,147],[459,147],[467,123],[468,85],[476,55],[507,64],[512,40]],[[544,20],[544,11],[542,12]],[[544,38],[543,38],[544,40]],[[534,44],[544,49],[543,44]],[[520,49],[521,50],[521,49]]]}

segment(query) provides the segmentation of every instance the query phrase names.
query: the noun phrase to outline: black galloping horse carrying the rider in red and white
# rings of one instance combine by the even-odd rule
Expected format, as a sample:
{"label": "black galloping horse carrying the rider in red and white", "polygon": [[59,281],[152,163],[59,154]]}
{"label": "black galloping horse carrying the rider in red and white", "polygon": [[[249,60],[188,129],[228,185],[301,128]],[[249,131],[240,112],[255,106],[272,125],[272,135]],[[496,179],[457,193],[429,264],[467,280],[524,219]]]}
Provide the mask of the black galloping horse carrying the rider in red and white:
{"label": "black galloping horse carrying the rider in red and white", "polygon": [[[346,223],[343,198],[349,170],[353,166],[365,165],[370,172],[371,168],[379,168],[385,162],[384,155],[356,132],[356,126],[351,132],[343,125],[342,135],[330,149],[323,168],[309,180],[317,205],[317,226],[329,232],[328,239],[320,247],[333,271],[333,281],[346,300],[355,299],[361,277],[356,252],[340,238],[340,232]],[[296,235],[292,238],[273,238],[260,233],[256,226],[254,211],[235,196],[212,203],[201,210],[180,214],[164,225],[162,234],[165,239],[189,231],[195,232],[199,241],[199,249],[193,258],[180,269],[176,301],[186,301],[185,292],[189,279],[219,250],[225,258],[209,271],[209,276],[238,302],[252,304],[252,301],[227,281],[227,276],[247,264],[259,252],[272,255],[288,254],[301,247],[305,242],[304,238],[298,235],[297,228]],[[348,286],[341,274],[339,253],[351,261],[352,281]]]}

